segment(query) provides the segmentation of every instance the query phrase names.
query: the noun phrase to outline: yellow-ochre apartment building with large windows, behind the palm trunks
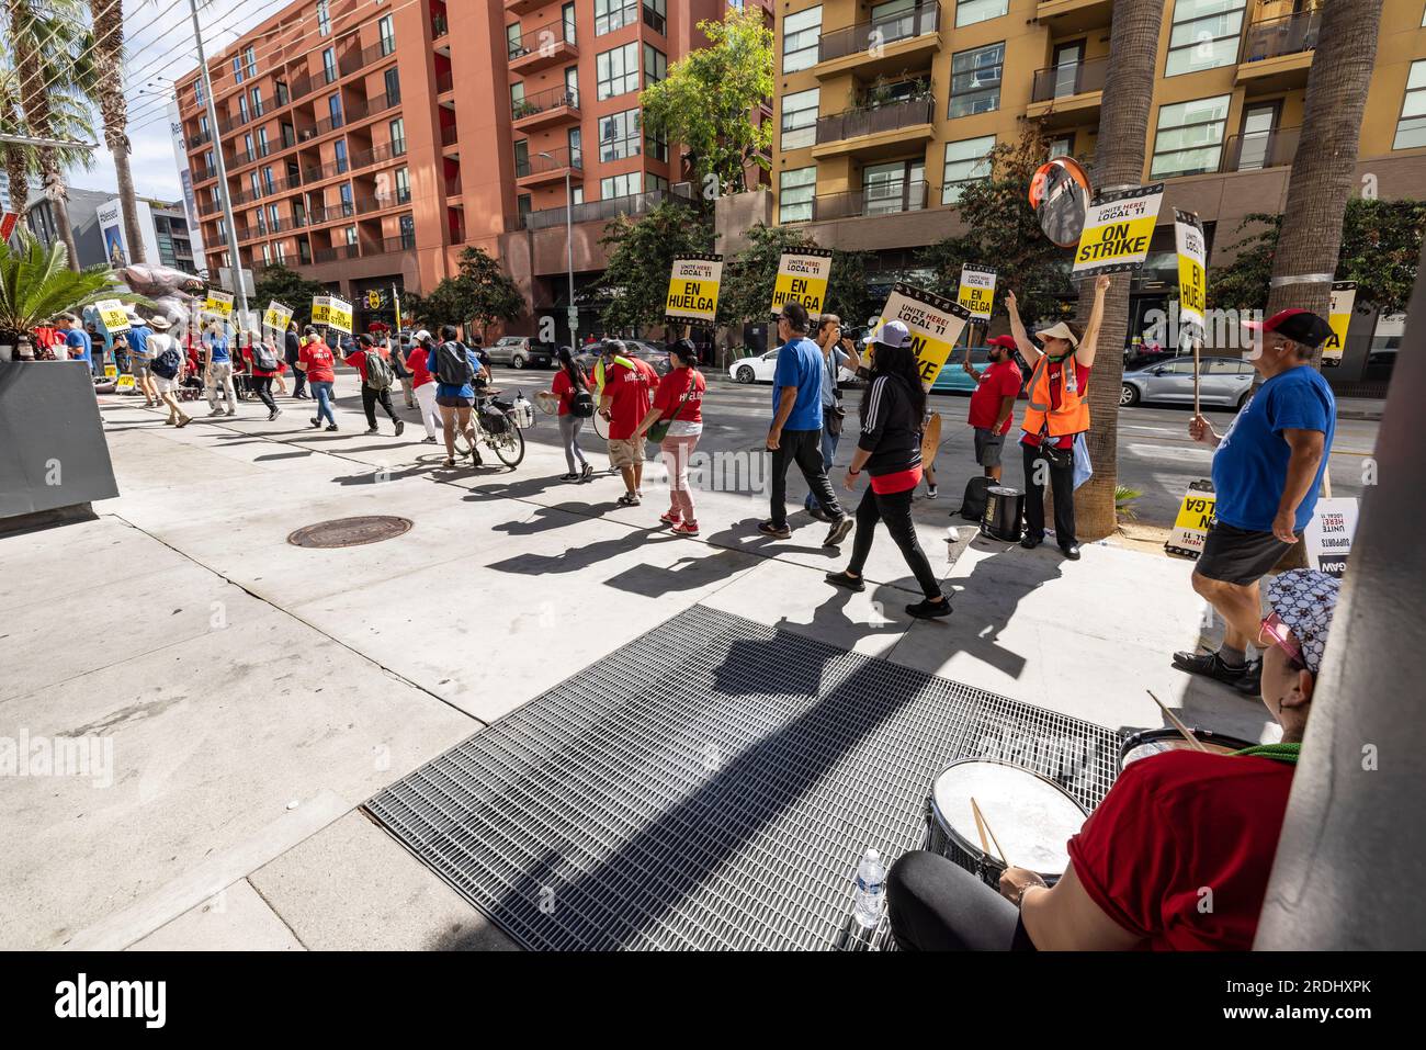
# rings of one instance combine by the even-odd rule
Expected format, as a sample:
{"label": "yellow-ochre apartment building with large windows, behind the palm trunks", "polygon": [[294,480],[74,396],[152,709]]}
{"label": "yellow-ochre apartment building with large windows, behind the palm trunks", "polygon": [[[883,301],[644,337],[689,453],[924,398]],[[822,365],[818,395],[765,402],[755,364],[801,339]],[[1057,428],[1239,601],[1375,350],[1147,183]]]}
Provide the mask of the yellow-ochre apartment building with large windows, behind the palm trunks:
{"label": "yellow-ochre apartment building with large windows, behind the palm trunks", "polygon": [[[1172,208],[1204,218],[1211,262],[1242,217],[1281,213],[1320,16],[1306,0],[1165,0],[1144,181],[1166,181],[1131,332],[1176,294]],[[1092,158],[1112,0],[786,0],[777,4],[771,218],[868,250],[883,282],[960,231],[985,154],[1038,120],[1055,154]],[[1426,194],[1426,0],[1386,0],[1358,173]],[[994,262],[994,260],[987,260]],[[1376,318],[1338,374],[1362,375]],[[1390,318],[1383,321],[1387,327]]]}

